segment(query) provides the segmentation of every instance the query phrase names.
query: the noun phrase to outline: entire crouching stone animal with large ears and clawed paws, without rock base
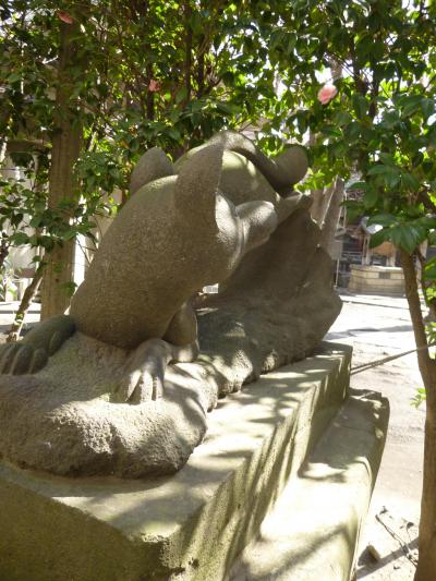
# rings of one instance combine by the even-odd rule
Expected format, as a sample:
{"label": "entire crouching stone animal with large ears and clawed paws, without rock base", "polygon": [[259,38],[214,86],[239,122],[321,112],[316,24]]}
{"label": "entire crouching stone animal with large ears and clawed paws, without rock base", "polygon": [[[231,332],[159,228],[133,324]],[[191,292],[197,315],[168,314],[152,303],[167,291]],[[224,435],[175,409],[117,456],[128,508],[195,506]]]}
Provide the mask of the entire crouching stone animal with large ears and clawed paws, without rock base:
{"label": "entire crouching stone animal with large ears and clawed paws, without rock base", "polygon": [[219,283],[298,206],[307,169],[293,146],[275,160],[222,132],[175,165],[148,150],[131,198],[105,234],[70,314],[40,323],[0,351],[0,373],[36,373],[73,332],[129,351],[116,401],[161,396],[166,365],[197,356],[193,294]]}

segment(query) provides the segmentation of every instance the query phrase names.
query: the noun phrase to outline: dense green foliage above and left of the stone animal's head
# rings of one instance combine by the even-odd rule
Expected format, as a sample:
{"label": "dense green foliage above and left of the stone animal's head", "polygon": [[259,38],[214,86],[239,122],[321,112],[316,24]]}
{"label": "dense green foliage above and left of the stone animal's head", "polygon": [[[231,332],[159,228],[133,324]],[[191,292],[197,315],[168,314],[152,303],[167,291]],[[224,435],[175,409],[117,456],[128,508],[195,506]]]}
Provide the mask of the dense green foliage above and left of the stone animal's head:
{"label": "dense green foliage above and left of the stone animal's head", "polygon": [[[65,29],[74,55],[61,75]],[[132,166],[149,147],[175,158],[222,128],[264,124],[264,145],[277,149],[268,120],[287,104],[276,98],[268,46],[280,50],[281,43],[268,3],[9,0],[1,32],[0,140],[15,146],[28,171],[37,156],[40,185],[3,184],[2,231],[14,245],[51,252],[90,234],[93,215],[116,211],[113,192],[125,198]],[[76,194],[48,207],[51,145],[65,114],[83,133]]]}

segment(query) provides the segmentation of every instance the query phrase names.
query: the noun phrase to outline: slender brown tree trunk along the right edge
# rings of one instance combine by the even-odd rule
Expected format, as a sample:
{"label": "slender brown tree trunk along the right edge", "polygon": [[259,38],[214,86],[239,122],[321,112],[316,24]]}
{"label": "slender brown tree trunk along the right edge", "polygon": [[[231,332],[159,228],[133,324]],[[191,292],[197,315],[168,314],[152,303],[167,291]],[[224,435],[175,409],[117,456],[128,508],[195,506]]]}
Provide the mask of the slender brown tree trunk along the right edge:
{"label": "slender brown tree trunk along the right edge", "polygon": [[[404,273],[405,296],[412,318],[417,348],[427,346],[424,318],[421,310],[413,256],[401,250],[401,266]],[[426,390],[426,417],[424,437],[423,494],[419,550],[420,558],[415,581],[436,579],[436,362],[428,349],[417,351],[417,365]]]}

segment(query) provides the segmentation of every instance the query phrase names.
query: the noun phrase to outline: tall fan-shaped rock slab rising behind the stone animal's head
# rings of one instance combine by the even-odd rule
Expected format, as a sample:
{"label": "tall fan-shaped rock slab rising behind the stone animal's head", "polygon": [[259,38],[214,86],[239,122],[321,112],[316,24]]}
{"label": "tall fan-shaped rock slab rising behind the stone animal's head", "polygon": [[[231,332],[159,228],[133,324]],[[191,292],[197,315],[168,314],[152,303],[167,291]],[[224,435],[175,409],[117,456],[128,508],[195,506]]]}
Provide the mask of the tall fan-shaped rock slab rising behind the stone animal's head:
{"label": "tall fan-shaped rock slab rising behind the stone animal's head", "polygon": [[205,302],[199,361],[226,370],[220,395],[308,355],[339,314],[331,259],[318,240],[308,211],[296,210]]}

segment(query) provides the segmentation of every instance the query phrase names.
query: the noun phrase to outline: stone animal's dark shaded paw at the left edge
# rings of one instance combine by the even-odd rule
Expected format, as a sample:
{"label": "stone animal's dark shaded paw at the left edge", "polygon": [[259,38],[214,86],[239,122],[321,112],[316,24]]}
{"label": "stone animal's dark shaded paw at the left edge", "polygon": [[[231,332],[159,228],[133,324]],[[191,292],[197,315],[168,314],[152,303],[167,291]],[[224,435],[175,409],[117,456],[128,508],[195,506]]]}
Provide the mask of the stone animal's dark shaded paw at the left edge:
{"label": "stone animal's dark shaded paw at the left edge", "polygon": [[36,373],[47,363],[44,348],[35,349],[24,342],[8,343],[0,348],[0,375],[24,375]]}

